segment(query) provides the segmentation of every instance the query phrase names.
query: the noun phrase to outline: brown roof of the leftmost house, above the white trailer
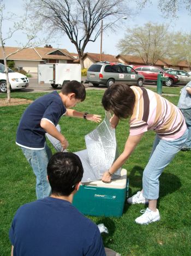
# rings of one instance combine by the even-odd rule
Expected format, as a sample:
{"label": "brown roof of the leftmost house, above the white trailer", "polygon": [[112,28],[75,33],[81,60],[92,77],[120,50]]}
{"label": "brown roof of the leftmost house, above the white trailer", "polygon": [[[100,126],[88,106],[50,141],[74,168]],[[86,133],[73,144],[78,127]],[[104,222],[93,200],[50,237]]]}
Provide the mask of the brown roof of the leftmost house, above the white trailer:
{"label": "brown roof of the leftmost house, above the white trailer", "polygon": [[[19,47],[5,47],[5,54],[14,53]],[[60,55],[53,54],[59,52]],[[0,47],[0,59],[3,59],[3,50]],[[45,59],[60,59],[60,60],[74,60],[75,58],[70,55],[66,49],[55,49],[49,47],[34,47],[20,50],[13,55],[10,55],[8,60],[33,60],[41,61]]]}

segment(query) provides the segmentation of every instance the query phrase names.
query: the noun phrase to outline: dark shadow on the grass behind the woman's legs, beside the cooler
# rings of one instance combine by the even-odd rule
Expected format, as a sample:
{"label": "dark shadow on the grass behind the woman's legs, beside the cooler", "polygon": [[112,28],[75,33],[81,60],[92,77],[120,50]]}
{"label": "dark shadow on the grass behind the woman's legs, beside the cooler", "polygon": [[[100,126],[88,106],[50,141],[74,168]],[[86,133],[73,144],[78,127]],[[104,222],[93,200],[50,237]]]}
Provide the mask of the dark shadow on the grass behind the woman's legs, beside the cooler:
{"label": "dark shadow on the grass behind the woman's legs, beside the cooler", "polygon": [[[128,197],[131,197],[132,195],[136,194],[137,191],[140,191],[142,189],[142,173],[144,172],[144,169],[140,166],[133,167],[132,171],[129,175],[129,191],[128,191]],[[160,202],[160,198],[172,194],[176,190],[180,189],[181,187],[181,181],[180,179],[172,173],[165,173],[163,172],[160,175],[159,178],[160,184],[159,184],[159,200],[158,204]],[[133,187],[139,187],[140,189],[133,191]],[[129,205],[126,203],[124,206],[123,213],[127,212],[129,209]]]}

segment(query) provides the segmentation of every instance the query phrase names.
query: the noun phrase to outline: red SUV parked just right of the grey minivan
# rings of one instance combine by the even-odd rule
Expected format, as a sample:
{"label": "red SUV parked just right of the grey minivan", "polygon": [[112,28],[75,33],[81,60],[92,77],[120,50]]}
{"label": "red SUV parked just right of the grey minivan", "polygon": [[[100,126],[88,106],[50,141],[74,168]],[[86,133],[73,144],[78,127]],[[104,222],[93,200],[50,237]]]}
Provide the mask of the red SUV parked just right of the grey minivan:
{"label": "red SUV parked just right of the grey minivan", "polygon": [[173,86],[178,82],[178,77],[166,73],[160,67],[154,66],[134,66],[134,70],[138,71],[140,75],[145,77],[145,82],[157,82],[158,73],[163,73],[164,77],[168,77],[167,81],[164,82],[165,86]]}

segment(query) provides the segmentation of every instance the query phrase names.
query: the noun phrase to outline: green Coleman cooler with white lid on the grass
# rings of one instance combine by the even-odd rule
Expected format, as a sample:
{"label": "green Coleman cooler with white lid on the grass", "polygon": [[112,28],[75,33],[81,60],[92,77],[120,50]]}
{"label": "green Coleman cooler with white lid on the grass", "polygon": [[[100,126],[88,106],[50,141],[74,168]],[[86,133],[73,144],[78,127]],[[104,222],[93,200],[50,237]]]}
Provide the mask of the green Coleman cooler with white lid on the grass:
{"label": "green Coleman cooler with white lid on the grass", "polygon": [[74,196],[73,205],[86,215],[121,216],[128,193],[127,170],[121,170],[121,177],[111,183],[92,181],[88,185],[80,185]]}

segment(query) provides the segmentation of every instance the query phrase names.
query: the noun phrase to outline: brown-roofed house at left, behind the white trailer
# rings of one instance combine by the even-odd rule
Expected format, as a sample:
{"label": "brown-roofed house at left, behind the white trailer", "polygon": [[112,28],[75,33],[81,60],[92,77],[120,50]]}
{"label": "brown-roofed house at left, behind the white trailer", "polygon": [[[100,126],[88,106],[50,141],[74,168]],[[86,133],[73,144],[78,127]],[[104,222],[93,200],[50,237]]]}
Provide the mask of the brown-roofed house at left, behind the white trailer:
{"label": "brown-roofed house at left, behind the white trailer", "polygon": [[[5,47],[5,54],[14,53],[19,47]],[[43,63],[73,63],[75,58],[66,49],[52,48],[51,45],[45,47],[33,47],[22,49],[8,57],[14,60],[17,69],[23,69],[29,73],[38,72],[38,64]],[[3,50],[0,47],[0,62],[3,61]]]}

